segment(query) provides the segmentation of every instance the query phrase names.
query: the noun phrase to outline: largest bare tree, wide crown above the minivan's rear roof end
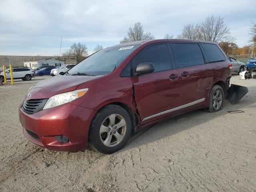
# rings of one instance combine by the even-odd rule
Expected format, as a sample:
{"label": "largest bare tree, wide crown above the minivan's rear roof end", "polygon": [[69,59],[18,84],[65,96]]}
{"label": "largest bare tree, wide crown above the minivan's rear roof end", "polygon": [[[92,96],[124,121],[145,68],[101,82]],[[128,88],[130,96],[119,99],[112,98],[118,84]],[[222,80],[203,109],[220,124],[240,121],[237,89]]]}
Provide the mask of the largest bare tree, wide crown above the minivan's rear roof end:
{"label": "largest bare tree, wide crown above the minivan's rear roof end", "polygon": [[213,42],[231,42],[229,28],[224,23],[223,17],[208,16],[199,24],[199,39]]}

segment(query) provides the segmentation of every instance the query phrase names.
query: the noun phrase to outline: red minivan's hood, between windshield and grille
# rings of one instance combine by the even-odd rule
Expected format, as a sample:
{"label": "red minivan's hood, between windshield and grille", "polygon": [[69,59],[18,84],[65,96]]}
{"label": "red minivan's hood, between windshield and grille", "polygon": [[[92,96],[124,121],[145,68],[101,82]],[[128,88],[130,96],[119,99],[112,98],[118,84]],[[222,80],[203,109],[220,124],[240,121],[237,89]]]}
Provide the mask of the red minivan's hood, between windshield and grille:
{"label": "red minivan's hood, between windshield and grille", "polygon": [[59,75],[38,82],[28,93],[31,92],[29,99],[50,98],[56,94],[76,90],[76,88],[85,82],[100,78],[100,76],[66,76]]}

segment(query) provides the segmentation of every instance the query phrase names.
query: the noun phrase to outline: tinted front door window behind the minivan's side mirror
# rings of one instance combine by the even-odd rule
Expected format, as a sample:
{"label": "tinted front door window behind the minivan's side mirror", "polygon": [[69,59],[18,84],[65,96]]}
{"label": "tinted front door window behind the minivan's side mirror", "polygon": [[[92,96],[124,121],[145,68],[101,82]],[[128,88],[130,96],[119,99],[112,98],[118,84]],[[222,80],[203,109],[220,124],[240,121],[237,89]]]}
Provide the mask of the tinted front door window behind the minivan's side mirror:
{"label": "tinted front door window behind the minivan's side mirror", "polygon": [[133,59],[134,68],[143,62],[150,62],[154,65],[154,72],[171,69],[171,59],[167,44],[156,44],[141,50]]}

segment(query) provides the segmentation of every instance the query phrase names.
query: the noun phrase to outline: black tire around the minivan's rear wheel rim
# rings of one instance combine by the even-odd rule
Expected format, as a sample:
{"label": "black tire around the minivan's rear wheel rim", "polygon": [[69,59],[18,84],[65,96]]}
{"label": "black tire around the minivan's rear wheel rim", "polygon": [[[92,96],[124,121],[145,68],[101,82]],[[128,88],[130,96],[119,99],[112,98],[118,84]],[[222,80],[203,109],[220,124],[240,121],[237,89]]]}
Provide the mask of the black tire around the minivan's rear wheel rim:
{"label": "black tire around the minivan's rear wheel rim", "polygon": [[[218,92],[219,91],[219,92]],[[216,101],[215,98],[216,98],[216,94],[219,93],[218,97],[217,98],[220,98],[220,95],[221,95],[221,102],[220,100],[219,101]],[[223,103],[224,103],[224,99],[225,99],[225,96],[224,96],[224,91],[222,89],[221,86],[219,85],[214,85],[212,87],[212,90],[210,91],[210,94],[209,94],[209,106],[208,108],[206,108],[206,111],[207,112],[210,112],[210,113],[213,113],[213,112],[217,112],[219,110],[222,110],[223,108]],[[215,100],[215,102],[214,102]],[[218,100],[218,99],[217,99]],[[218,103],[218,104],[217,104]],[[218,106],[218,107],[216,107]]]}

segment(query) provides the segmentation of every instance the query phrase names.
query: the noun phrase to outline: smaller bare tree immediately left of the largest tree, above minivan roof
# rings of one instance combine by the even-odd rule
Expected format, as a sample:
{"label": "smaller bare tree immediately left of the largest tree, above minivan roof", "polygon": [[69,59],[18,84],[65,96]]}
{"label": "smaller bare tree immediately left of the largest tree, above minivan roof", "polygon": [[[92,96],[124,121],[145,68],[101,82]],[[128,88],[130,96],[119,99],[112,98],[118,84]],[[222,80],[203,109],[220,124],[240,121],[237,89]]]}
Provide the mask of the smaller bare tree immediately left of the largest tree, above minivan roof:
{"label": "smaller bare tree immediately left of the largest tree, above minivan roof", "polygon": [[185,25],[182,28],[182,33],[178,35],[180,39],[192,39],[196,40],[200,37],[198,24],[194,25],[192,23]]}

